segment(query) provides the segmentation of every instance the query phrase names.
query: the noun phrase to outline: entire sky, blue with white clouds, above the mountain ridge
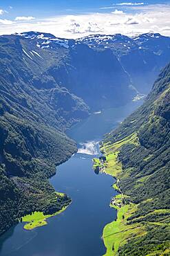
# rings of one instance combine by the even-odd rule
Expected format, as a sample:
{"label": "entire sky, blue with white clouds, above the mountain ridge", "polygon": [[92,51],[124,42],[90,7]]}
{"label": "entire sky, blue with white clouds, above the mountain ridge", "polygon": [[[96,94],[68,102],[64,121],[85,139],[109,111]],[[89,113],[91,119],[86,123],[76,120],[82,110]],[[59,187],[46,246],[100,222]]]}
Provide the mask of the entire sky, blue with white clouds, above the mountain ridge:
{"label": "entire sky, blue with white clouds, above the mountain ridge", "polygon": [[170,36],[170,0],[0,0],[0,35],[30,30],[65,38]]}

